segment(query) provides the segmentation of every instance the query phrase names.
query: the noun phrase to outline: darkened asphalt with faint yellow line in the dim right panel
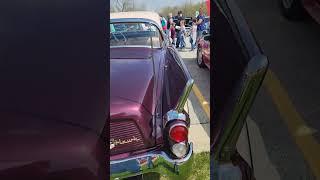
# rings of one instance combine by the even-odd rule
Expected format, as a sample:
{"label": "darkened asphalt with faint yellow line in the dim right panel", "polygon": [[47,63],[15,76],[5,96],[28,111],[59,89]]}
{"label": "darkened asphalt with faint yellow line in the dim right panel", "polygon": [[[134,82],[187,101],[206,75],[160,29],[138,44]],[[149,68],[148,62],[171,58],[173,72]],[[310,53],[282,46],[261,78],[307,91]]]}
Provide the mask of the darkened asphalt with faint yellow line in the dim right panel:
{"label": "darkened asphalt with faint yellow line in the dim right panel", "polygon": [[279,179],[320,178],[320,26],[287,20],[279,0],[235,2],[270,61],[248,121],[256,127],[248,125],[250,140],[260,139],[252,147],[255,174],[267,175],[257,155],[263,146]]}

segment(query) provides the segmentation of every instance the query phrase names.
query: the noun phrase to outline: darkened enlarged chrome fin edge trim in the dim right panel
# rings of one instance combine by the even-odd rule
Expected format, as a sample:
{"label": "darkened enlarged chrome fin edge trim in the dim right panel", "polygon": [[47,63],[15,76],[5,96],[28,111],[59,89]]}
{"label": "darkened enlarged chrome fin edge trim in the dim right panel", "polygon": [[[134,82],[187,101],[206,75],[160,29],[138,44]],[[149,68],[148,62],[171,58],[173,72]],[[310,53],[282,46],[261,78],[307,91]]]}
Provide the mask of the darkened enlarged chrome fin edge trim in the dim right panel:
{"label": "darkened enlarged chrome fin edge trim in the dim right panel", "polygon": [[236,144],[241,130],[267,73],[268,66],[269,61],[266,56],[256,55],[250,59],[240,76],[241,80],[237,82],[237,89],[232,94],[234,100],[232,105],[228,107],[230,108],[230,115],[226,116],[228,119],[225,119],[226,123],[223,132],[219,135],[219,142],[211,145],[216,160],[230,161],[236,153]]}

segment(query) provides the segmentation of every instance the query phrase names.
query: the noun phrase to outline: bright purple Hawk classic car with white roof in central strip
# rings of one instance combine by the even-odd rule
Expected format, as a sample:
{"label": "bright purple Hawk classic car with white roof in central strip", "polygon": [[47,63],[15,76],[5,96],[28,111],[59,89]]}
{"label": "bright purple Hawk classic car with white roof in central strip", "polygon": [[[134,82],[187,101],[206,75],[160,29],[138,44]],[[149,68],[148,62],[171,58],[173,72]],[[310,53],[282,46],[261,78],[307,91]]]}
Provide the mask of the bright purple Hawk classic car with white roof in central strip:
{"label": "bright purple Hawk classic car with white roof in central strip", "polygon": [[193,79],[160,27],[153,12],[110,15],[112,179],[147,172],[177,178],[191,165],[184,104]]}

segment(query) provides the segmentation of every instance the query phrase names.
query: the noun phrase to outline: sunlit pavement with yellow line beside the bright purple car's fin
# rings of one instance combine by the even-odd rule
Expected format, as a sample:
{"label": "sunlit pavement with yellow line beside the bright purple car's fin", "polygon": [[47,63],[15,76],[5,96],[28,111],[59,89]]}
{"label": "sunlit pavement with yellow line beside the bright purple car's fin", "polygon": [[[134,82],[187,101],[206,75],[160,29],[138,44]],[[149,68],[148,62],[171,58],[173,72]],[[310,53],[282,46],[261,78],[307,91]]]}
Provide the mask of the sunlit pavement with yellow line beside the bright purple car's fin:
{"label": "sunlit pavement with yellow line beside the bright purple car's fin", "polygon": [[210,71],[198,67],[196,50],[191,52],[189,43],[179,53],[195,82],[185,107],[191,119],[189,139],[195,153],[210,151]]}

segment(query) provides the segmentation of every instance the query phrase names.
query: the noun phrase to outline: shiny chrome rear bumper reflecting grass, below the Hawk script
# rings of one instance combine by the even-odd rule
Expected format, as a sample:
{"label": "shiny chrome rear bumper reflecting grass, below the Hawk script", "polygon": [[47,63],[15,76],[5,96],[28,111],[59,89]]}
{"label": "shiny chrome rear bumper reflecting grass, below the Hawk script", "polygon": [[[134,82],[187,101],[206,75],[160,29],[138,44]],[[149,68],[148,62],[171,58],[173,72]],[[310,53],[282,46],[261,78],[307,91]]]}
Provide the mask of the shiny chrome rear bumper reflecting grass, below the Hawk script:
{"label": "shiny chrome rear bumper reflecting grass, below the Hawk script", "polygon": [[122,179],[146,173],[159,173],[170,179],[186,179],[191,172],[193,144],[189,143],[187,155],[172,159],[163,151],[153,151],[122,160],[110,161],[110,178]]}

